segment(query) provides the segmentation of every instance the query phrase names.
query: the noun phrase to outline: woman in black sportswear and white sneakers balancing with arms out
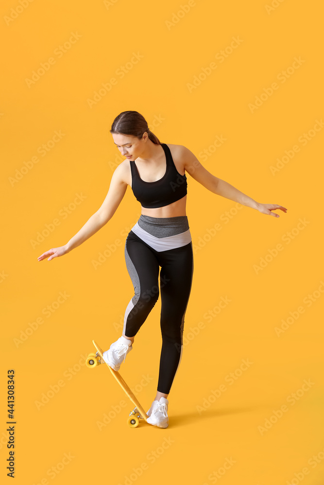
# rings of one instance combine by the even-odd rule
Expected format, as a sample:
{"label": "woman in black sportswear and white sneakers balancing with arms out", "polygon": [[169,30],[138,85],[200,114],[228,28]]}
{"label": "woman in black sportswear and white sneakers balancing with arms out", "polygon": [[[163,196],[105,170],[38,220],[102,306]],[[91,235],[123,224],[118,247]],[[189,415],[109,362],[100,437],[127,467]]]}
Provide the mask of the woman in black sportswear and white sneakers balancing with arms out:
{"label": "woman in black sportswear and white sneakers balancing with arms out", "polygon": [[154,307],[160,271],[162,349],[156,396],[147,412],[148,422],[166,428],[168,395],[182,356],[184,318],[193,273],[192,242],[186,216],[187,177],[214,194],[279,217],[273,210],[287,211],[276,204],[260,204],[229,183],[214,177],[182,145],[160,143],[136,111],[124,111],[114,120],[110,132],[126,160],[113,173],[102,206],[64,246],[46,251],[38,260],[48,261],[67,254],[86,241],[114,215],[129,185],[141,203],[141,216],[125,243],[127,270],[135,294],[126,307],[123,332],[103,353],[116,371],[132,350],[134,338]]}

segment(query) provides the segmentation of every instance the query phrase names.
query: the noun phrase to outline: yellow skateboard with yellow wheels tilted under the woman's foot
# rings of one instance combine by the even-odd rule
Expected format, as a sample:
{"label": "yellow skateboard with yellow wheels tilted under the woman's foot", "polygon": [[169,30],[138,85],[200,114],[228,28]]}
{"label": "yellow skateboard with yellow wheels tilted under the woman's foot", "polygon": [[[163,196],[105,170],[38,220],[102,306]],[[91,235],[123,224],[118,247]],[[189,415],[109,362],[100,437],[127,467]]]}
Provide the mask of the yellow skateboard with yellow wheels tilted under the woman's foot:
{"label": "yellow skateboard with yellow wheels tilted under the woman's foot", "polygon": [[115,379],[118,381],[119,386],[123,389],[123,391],[126,393],[126,395],[128,396],[128,398],[135,405],[135,408],[133,409],[133,411],[131,411],[129,413],[129,418],[127,420],[127,424],[131,428],[136,428],[136,426],[138,426],[138,424],[139,424],[139,420],[140,419],[147,421],[148,416],[146,415],[146,412],[144,411],[144,409],[141,406],[141,404],[138,402],[138,400],[137,400],[136,396],[134,395],[133,391],[127,386],[126,382],[121,377],[121,375],[119,374],[119,372],[114,371],[114,369],[112,369],[103,360],[102,349],[99,347],[99,345],[94,340],[92,340],[92,343],[95,346],[97,352],[96,352],[96,354],[91,353],[91,354],[89,354],[87,356],[87,359],[85,361],[85,365],[89,369],[93,369],[93,368],[97,367],[100,364],[106,364],[106,366],[108,367],[108,369],[110,370],[110,372],[113,374],[113,376],[115,377]]}

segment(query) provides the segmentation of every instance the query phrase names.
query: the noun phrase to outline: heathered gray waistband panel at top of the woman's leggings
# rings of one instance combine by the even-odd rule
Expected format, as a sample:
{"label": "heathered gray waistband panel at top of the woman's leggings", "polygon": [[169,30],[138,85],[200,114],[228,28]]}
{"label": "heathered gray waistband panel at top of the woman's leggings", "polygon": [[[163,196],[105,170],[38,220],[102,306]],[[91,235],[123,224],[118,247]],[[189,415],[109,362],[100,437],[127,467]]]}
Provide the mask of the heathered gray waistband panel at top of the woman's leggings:
{"label": "heathered gray waistband panel at top of the woman's leggings", "polygon": [[176,217],[151,217],[141,214],[137,224],[144,231],[147,231],[156,238],[176,236],[189,229],[188,217],[186,215]]}

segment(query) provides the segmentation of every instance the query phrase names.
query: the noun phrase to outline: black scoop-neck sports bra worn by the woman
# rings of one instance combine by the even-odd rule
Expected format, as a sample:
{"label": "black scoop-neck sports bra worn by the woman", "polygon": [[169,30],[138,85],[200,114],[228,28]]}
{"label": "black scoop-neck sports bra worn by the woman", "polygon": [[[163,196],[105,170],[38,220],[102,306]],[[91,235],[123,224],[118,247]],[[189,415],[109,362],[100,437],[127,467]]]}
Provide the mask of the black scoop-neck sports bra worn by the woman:
{"label": "black scoop-neck sports bra worn by the woman", "polygon": [[155,182],[142,180],[135,161],[130,160],[133,193],[142,207],[149,209],[167,206],[187,194],[186,175],[177,171],[169,146],[166,143],[161,143],[161,146],[166,156],[167,169],[164,176]]}

